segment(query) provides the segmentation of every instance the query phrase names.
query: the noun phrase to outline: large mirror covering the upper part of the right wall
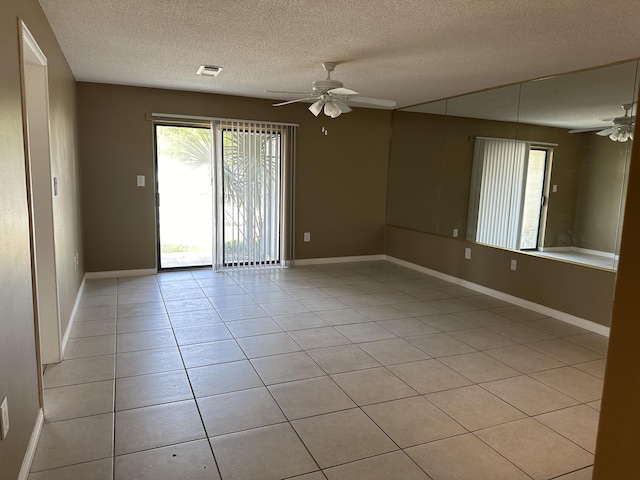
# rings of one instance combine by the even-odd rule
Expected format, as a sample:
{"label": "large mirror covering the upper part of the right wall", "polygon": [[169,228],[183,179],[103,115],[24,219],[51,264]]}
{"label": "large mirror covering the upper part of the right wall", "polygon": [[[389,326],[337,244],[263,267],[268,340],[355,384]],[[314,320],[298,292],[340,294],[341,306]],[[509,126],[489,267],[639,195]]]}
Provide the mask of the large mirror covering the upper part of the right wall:
{"label": "large mirror covering the upper part of the right wall", "polygon": [[396,110],[387,224],[615,269],[638,62]]}

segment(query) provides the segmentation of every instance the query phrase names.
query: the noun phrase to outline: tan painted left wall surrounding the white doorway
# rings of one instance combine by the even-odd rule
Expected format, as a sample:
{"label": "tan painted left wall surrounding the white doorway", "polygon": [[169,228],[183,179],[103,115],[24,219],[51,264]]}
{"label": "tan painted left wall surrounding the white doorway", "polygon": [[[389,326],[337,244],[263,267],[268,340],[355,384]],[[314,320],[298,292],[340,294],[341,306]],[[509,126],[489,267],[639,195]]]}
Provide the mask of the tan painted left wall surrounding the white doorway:
{"label": "tan painted left wall surrounding the white doorway", "polygon": [[[62,328],[69,322],[83,271],[76,162],[74,79],[36,0],[0,3],[0,399],[8,398],[10,431],[0,443],[0,478],[17,478],[36,421],[38,367],[31,288],[18,18],[48,60],[52,169],[61,184],[54,200]],[[73,252],[73,253],[71,253]]]}

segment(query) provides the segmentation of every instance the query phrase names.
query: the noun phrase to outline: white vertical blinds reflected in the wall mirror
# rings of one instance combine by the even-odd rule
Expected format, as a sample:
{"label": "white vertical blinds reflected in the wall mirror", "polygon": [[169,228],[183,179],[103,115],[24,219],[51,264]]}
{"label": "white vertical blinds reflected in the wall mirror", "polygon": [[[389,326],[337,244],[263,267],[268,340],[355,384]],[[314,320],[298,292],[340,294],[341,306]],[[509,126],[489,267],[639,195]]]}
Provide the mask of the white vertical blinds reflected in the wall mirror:
{"label": "white vertical blinds reflected in the wall mirror", "polygon": [[476,138],[470,207],[475,241],[517,248],[527,152],[527,142]]}

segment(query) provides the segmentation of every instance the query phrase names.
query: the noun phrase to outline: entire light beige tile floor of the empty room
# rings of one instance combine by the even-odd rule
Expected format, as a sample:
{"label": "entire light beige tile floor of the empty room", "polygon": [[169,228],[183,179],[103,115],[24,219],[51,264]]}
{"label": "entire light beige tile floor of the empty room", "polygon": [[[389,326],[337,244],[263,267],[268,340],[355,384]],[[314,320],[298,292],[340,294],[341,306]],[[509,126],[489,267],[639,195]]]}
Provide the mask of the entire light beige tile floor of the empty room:
{"label": "entire light beige tile floor of the empty room", "polygon": [[607,339],[389,262],[87,280],[30,480],[591,478]]}

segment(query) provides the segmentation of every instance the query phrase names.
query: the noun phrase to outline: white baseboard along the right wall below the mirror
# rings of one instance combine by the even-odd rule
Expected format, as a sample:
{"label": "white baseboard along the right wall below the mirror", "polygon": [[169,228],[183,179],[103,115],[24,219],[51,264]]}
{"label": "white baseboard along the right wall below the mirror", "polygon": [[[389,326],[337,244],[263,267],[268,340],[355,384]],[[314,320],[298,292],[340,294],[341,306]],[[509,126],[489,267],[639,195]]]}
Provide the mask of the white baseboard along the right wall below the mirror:
{"label": "white baseboard along the right wall below the mirror", "polygon": [[585,330],[599,333],[600,335],[604,335],[605,337],[609,336],[609,327],[605,327],[604,325],[600,325],[599,323],[592,322],[591,320],[586,320],[584,318],[576,317],[575,315],[561,312],[560,310],[555,310],[545,305],[540,305],[538,303],[530,302],[529,300],[525,300],[523,298],[514,297],[513,295],[509,295],[507,293],[500,292],[498,290],[493,290],[491,288],[487,288],[482,285],[478,285],[476,283],[463,280],[461,278],[453,277],[451,275],[447,275],[446,273],[438,272],[437,270],[431,270],[430,268],[422,267],[420,265],[416,265],[414,263],[410,263],[405,260],[400,260],[399,258],[395,258],[387,255],[386,259],[398,265],[402,265],[404,267],[411,268],[413,270],[417,270],[422,273],[426,273],[433,277],[440,278],[442,280],[446,280],[451,283],[455,283],[456,285],[460,285],[462,287],[475,290],[476,292],[489,295],[499,300],[504,300],[505,302],[513,303],[514,305],[517,305],[519,307],[527,308],[529,310],[533,310],[534,312],[542,313],[543,315],[553,317],[557,320],[562,320],[563,322],[570,323],[571,325],[575,325],[580,328],[584,328]]}

